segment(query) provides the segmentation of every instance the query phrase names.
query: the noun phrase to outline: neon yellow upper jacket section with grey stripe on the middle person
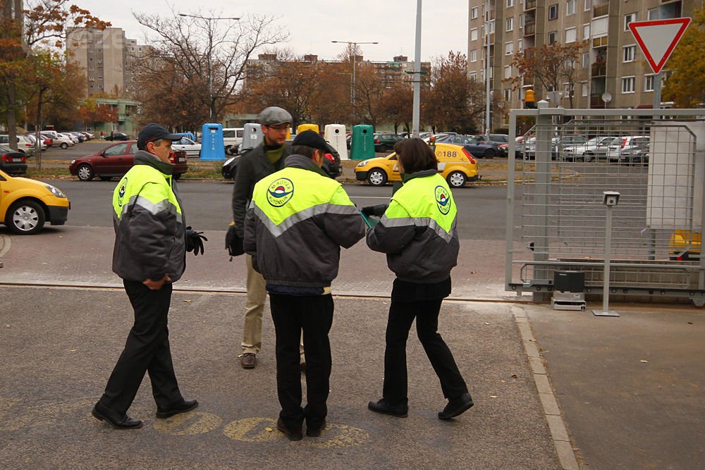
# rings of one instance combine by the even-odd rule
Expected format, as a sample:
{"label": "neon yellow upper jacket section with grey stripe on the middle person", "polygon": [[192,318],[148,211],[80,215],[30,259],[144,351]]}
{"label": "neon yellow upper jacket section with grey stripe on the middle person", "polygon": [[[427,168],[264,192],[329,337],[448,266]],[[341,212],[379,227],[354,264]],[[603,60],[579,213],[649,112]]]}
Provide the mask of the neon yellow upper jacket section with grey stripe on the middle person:
{"label": "neon yellow upper jacket section with grey stripe on the middle person", "polygon": [[288,167],[255,185],[250,207],[278,237],[296,223],[318,214],[357,214],[341,184],[318,173]]}

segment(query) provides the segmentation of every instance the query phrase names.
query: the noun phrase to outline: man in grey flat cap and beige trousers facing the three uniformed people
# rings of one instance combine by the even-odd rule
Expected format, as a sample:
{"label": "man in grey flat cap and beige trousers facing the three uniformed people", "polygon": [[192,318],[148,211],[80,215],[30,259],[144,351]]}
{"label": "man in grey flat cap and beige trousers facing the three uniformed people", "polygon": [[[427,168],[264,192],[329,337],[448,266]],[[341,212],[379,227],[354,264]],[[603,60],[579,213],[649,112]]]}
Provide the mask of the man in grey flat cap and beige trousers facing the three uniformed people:
{"label": "man in grey flat cap and beige trousers facing the three uniformed people", "polygon": [[[242,244],[245,233],[245,213],[252,200],[255,183],[284,167],[284,159],[291,149],[284,142],[293,119],[288,111],[278,106],[269,106],[259,113],[264,139],[254,149],[240,156],[238,173],[233,189],[233,228],[236,239]],[[231,228],[231,230],[233,230]],[[242,253],[242,249],[239,250]],[[252,268],[252,256],[245,255],[247,266],[247,302],[245,303],[245,325],[243,326],[243,354],[240,365],[243,369],[255,369],[257,353],[262,348],[262,311],[266,299],[266,288],[262,274]],[[303,346],[301,347],[303,364]]]}

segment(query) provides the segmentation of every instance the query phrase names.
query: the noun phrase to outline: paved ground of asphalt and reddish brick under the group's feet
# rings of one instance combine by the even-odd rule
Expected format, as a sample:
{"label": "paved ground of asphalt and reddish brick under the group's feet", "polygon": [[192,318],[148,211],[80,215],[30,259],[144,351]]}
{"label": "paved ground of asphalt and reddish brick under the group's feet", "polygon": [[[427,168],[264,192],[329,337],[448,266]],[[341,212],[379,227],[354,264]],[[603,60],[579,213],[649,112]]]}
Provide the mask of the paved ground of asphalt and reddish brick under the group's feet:
{"label": "paved ground of asphalt and reddish brick under the group's feet", "polygon": [[612,305],[622,316],[604,318],[532,304],[503,291],[504,243],[484,240],[462,240],[455,300],[443,304],[439,327],[476,406],[453,423],[436,419],[441,392],[412,333],[410,418],[367,411],[381,392],[393,276],[383,255],[358,244],[343,250],[333,284],[331,429],[320,441],[288,443],[273,424],[271,321],[260,366],[240,369],[243,259],[228,262],[224,233],[208,235],[204,256],[188,256],[170,316],[180,381],[202,407],[183,421],[156,421],[145,383],[132,414],[147,426],[118,433],[89,414],[130,327],[110,268],[112,229],[0,233],[8,468],[123,468],[130,454],[147,468],[701,468],[701,310]]}

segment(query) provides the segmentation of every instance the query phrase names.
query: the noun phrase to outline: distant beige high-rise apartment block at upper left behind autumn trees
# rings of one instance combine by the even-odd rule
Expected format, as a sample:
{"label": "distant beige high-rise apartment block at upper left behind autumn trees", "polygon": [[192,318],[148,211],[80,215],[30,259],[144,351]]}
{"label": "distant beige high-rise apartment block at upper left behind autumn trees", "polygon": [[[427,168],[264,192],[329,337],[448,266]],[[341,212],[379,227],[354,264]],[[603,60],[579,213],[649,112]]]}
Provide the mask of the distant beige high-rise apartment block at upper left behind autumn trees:
{"label": "distant beige high-rise apartment block at upper left behind autumn trees", "polygon": [[147,55],[148,46],[128,39],[119,27],[71,28],[67,37],[66,50],[85,70],[87,97],[99,93],[130,96],[135,80],[133,64]]}

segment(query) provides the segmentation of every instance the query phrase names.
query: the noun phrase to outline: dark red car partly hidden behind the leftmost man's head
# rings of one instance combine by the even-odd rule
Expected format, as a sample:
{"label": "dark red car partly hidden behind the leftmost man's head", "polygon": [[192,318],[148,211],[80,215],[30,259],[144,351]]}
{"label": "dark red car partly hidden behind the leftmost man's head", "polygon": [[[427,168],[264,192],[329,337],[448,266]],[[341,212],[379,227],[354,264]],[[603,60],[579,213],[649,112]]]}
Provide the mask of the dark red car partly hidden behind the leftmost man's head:
{"label": "dark red car partly hidden behind the leftmost man's head", "polygon": [[[137,151],[136,140],[111,144],[95,154],[71,161],[68,171],[78,176],[81,181],[90,181],[96,176],[107,181],[114,176],[124,175],[132,168],[135,151]],[[188,171],[188,158],[183,150],[172,154],[171,163],[176,165],[174,178],[177,180]]]}

